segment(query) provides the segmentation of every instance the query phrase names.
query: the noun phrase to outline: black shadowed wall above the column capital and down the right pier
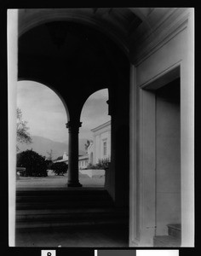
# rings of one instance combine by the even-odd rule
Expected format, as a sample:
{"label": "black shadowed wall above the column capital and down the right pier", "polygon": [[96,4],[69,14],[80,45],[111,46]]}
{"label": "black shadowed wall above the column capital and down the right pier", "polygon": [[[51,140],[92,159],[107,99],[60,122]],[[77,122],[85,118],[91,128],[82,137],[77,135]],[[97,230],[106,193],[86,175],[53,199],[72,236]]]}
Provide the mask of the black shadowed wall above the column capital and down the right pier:
{"label": "black shadowed wall above the column capital and down the right pier", "polygon": [[108,88],[112,109],[110,190],[118,204],[128,205],[129,60],[118,45],[90,26],[67,21],[43,24],[19,38],[18,77],[58,91],[71,120],[80,118],[91,94]]}

